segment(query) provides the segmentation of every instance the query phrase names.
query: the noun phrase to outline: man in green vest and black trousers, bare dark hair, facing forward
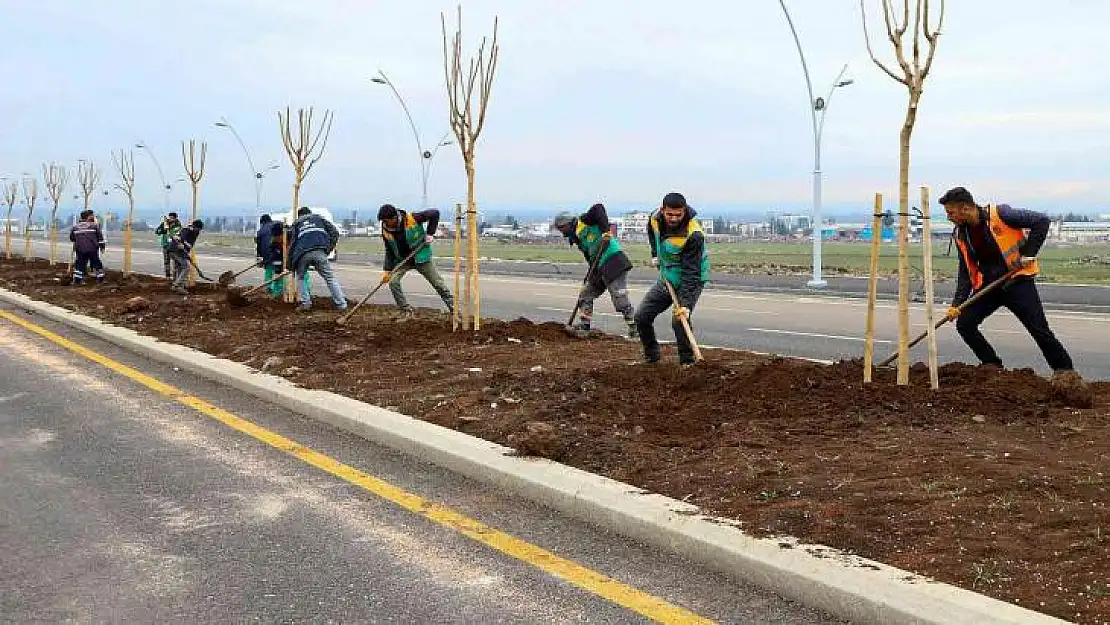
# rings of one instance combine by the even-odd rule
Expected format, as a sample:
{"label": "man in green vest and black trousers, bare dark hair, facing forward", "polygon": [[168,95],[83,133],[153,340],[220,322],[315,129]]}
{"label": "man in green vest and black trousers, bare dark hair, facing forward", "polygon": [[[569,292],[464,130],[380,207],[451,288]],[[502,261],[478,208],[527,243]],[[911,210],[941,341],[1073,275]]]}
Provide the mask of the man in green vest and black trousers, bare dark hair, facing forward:
{"label": "man in green vest and black trousers, bare dark hair, facing forward", "polygon": [[702,224],[694,219],[697,213],[686,204],[682,193],[667,193],[659,210],[647,220],[647,241],[652,245],[652,265],[659,268],[659,279],[644,295],[636,309],[636,326],[644,345],[644,362],[659,362],[659,342],[655,339],[655,317],[673,305],[667,283],[678,298],[670,326],[678,346],[678,362],[694,364],[690,345],[682,320],[689,322],[690,313],[709,281],[709,251],[705,244]]}

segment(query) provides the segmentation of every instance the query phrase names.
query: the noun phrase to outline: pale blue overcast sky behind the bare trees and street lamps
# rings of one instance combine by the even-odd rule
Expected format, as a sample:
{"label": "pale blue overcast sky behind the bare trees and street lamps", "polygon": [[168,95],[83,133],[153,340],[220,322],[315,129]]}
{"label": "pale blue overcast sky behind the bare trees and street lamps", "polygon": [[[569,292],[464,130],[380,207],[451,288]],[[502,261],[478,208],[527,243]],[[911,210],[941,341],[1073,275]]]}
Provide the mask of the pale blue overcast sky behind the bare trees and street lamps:
{"label": "pale blue overcast sky behind the bare trees and street lamps", "polygon": [[[875,49],[894,64],[878,0],[866,0]],[[936,0],[934,0],[936,2]],[[896,3],[900,3],[897,0]],[[225,115],[258,164],[280,162],[268,202],[291,177],[275,112],[336,113],[305,203],[420,202],[415,142],[385,70],[426,143],[446,130],[440,13],[434,0],[0,0],[0,175],[92,159],[139,140],[168,178],[180,141],[209,142],[202,203],[253,205],[250,171]],[[867,58],[858,0],[788,2],[815,91],[850,63],[825,131],[825,198],[866,204],[892,192],[906,90]],[[696,204],[808,205],[813,137],[805,81],[777,0],[470,1],[464,46],[501,19],[501,64],[477,150],[480,202],[657,204],[670,190]],[[914,135],[912,184],[935,196],[963,184],[982,200],[1093,209],[1110,190],[1110,94],[1099,0],[948,3]],[[317,112],[319,114],[319,112]],[[158,174],[137,152],[138,195],[161,204]],[[457,148],[435,160],[431,200],[465,193]],[[72,193],[70,193],[71,195]],[[183,185],[174,201],[185,199]]]}

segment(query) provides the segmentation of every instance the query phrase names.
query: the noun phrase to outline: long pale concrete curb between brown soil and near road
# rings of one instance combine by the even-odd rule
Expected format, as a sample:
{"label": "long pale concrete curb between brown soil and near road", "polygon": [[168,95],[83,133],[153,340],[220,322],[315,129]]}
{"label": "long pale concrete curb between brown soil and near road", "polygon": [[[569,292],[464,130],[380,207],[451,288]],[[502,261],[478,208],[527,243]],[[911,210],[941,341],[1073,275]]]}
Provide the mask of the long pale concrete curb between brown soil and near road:
{"label": "long pale concrete curb between brown soil and near road", "polygon": [[495,443],[334,393],[301,389],[20,293],[0,289],[0,301],[856,623],[1067,623],[830,547],[755,538],[735,522],[705,516],[677,500],[555,462],[512,456],[509,448]]}

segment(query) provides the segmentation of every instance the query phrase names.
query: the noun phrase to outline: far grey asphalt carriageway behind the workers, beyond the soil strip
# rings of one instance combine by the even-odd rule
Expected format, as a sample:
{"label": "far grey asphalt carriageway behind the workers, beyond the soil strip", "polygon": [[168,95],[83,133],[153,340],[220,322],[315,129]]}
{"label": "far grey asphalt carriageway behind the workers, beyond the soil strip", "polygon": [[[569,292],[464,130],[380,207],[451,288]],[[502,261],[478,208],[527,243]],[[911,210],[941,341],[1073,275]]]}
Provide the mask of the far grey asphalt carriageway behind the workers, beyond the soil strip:
{"label": "far grey asphalt carriageway behind the workers, beyond the soil strip", "polygon": [[[107,262],[119,266],[119,252],[109,253]],[[139,271],[162,273],[161,252],[135,250]],[[226,252],[203,251],[199,263],[211,276],[228,269],[241,269],[249,263],[246,256]],[[354,264],[341,260],[336,265],[347,298],[364,295],[377,283],[379,264]],[[565,322],[577,296],[579,273],[571,275],[482,275],[482,314],[502,319],[526,316],[534,321]],[[261,271],[249,272],[240,281],[256,284]],[[453,288],[453,275],[444,273]],[[424,280],[410,272],[405,276],[405,291],[415,305],[442,306],[438,298]],[[638,303],[648,283],[632,284],[632,298]],[[326,294],[326,289],[314,276],[313,292]],[[392,303],[387,290],[374,296],[375,303]],[[940,319],[946,305],[938,302],[936,317]],[[911,337],[925,329],[925,311],[920,304],[911,306]],[[712,346],[737,347],[757,352],[803,356],[818,360],[861,357],[866,301],[852,296],[831,294],[751,292],[736,289],[709,289],[702,296],[694,312],[698,341]],[[607,296],[595,304],[595,325],[623,333],[624,323],[614,314]],[[1110,379],[1110,313],[1101,306],[1053,306],[1049,321],[1064,346],[1071,352],[1076,366],[1086,377]],[[673,336],[669,316],[662,315],[656,327],[660,337]],[[1007,366],[1033,367],[1049,373],[1036,344],[1025,329],[1008,312],[1000,311],[985,324],[985,332],[992,341]],[[881,301],[876,315],[876,360],[886,357],[897,347],[898,323],[896,302]],[[975,356],[959,339],[952,324],[938,331],[937,347],[940,362],[975,362]],[[925,359],[925,344],[915,351],[917,360]]]}

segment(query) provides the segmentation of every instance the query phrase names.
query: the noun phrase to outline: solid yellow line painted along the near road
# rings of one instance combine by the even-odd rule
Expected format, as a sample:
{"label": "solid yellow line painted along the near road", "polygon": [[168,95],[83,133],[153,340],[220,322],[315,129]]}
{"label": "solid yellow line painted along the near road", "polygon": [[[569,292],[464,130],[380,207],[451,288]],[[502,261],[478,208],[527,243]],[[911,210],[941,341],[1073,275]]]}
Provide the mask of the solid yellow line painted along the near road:
{"label": "solid yellow line painted along the near road", "polygon": [[455,512],[450,507],[410,493],[390,484],[389,482],[374,477],[367,473],[363,473],[351,465],[343,464],[331,456],[305,447],[304,445],[286,438],[281,434],[271,432],[261,425],[236,416],[219,406],[212,405],[200,397],[190,395],[180,389],[135,371],[125,364],[101,355],[83,345],[74,343],[64,336],[56,334],[46,327],[36,325],[8,311],[0,310],[0,319],[6,319],[16,325],[24,327],[26,330],[61,345],[78,355],[101,364],[120,375],[127,376],[128,379],[147,386],[152,391],[210,416],[233,430],[238,430],[243,434],[295,456],[312,466],[331,473],[332,475],[351,484],[361,486],[365,491],[387,500],[407,511],[414,512],[428,521],[433,521],[440,525],[454,530],[470,538],[473,538],[474,541],[493,547],[505,555],[526,562],[546,573],[569,582],[571,584],[588,591],[602,598],[646,616],[647,618],[659,623],[713,623],[713,621],[703,618],[688,609],[667,603],[659,597],[647,594],[627,584],[623,584],[596,571],[586,568],[576,562],[559,557],[547,550],[495,530],[481,521],[470,518],[468,516]]}

